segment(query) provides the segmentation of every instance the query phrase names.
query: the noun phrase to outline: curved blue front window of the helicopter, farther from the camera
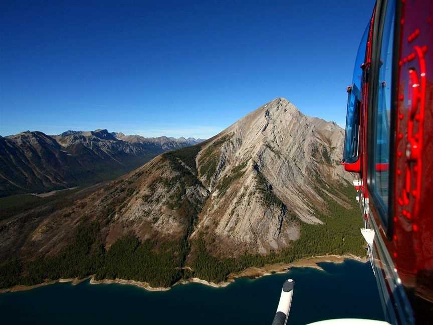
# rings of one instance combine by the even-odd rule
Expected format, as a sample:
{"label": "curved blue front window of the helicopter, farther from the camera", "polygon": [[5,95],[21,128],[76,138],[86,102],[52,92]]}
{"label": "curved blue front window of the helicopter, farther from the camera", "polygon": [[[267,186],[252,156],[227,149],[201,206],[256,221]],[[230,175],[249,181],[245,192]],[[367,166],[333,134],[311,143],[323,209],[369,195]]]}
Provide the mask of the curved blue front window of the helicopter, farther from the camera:
{"label": "curved blue front window of the helicopter, farther from the camera", "polygon": [[349,93],[347,99],[346,114],[346,134],[344,138],[343,161],[353,164],[358,159],[359,146],[359,109],[360,109],[360,89],[362,85],[361,65],[365,60],[365,51],[367,47],[367,38],[370,24],[367,24],[361,43],[359,44],[356,55],[355,69],[353,71],[352,86],[347,89]]}

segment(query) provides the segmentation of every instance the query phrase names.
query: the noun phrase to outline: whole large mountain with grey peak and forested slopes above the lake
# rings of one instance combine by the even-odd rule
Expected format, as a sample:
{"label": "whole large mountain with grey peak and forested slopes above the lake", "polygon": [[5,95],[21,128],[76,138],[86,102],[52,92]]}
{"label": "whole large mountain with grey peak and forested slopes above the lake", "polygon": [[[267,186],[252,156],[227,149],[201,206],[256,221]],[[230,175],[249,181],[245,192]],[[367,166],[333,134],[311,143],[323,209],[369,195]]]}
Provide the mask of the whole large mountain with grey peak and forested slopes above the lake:
{"label": "whole large mountain with grey peak and forested slopes above the lake", "polygon": [[[38,270],[26,283],[78,273],[167,286],[192,276],[223,281],[248,266],[304,256],[365,254],[352,179],[340,165],[343,140],[334,122],[277,98],[108,185],[0,222],[0,258],[63,256],[20,266],[23,274]],[[67,274],[53,273],[83,254],[74,248],[83,232],[85,262],[74,264],[82,269],[62,264]],[[18,283],[11,281],[4,283]]]}

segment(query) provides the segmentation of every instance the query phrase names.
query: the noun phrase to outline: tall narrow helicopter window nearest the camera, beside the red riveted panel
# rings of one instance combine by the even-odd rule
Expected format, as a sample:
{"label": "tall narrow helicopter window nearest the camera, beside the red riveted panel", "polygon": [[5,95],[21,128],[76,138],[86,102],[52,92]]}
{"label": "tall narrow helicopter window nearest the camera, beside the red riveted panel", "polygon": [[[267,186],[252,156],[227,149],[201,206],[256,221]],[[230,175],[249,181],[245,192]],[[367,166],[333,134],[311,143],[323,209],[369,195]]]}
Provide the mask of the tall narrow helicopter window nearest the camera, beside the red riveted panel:
{"label": "tall narrow helicopter window nearest the camera, beside the red riveted panel", "polygon": [[[375,146],[373,191],[378,203],[388,211],[389,147],[391,116],[391,75],[395,2],[388,1],[380,48],[377,112],[375,119]],[[386,216],[382,216],[385,217]]]}

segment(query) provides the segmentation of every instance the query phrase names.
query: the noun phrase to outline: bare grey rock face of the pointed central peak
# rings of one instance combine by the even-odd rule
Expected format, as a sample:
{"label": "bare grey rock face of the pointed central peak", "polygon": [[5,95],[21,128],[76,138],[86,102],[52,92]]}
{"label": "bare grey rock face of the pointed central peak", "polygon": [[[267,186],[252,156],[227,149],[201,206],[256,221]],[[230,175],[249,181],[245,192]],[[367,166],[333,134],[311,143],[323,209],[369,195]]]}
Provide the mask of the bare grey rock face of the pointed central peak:
{"label": "bare grey rock face of the pointed central peak", "polygon": [[199,174],[211,194],[198,228],[251,251],[287,246],[298,238],[299,222],[322,223],[313,210],[324,204],[315,183],[351,181],[339,163],[343,139],[338,125],[305,116],[284,98],[248,114],[197,155],[198,171],[200,164],[215,167]]}

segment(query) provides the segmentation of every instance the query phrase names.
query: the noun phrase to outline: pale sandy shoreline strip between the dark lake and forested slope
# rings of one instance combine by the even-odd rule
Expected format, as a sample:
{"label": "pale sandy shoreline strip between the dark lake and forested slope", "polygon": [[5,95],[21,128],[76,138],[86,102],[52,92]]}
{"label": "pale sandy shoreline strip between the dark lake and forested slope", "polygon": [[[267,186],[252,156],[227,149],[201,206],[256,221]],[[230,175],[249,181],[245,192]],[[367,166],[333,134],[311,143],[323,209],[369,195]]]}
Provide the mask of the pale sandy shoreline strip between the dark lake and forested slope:
{"label": "pale sandy shoreline strip between the dark lake and forested slope", "polygon": [[322,255],[322,256],[304,257],[304,258],[301,258],[301,259],[296,260],[296,261],[289,263],[289,264],[277,263],[277,264],[265,265],[263,267],[252,266],[252,267],[245,269],[244,271],[242,271],[240,273],[229,274],[227,281],[224,281],[224,282],[214,283],[214,282],[208,282],[206,280],[202,280],[202,279],[194,277],[194,278],[189,278],[186,280],[179,280],[169,287],[152,287],[147,282],[141,282],[141,281],[135,281],[135,280],[124,280],[124,279],[95,280],[95,275],[93,274],[93,275],[89,275],[89,276],[82,278],[82,279],[79,279],[79,278],[67,278],[67,279],[60,278],[58,280],[47,281],[47,282],[43,282],[43,283],[31,285],[31,286],[16,285],[16,286],[13,286],[11,288],[0,289],[0,293],[27,291],[27,290],[36,289],[36,288],[39,288],[42,286],[55,284],[55,283],[72,282],[72,285],[77,285],[77,284],[82,283],[88,279],[90,279],[90,284],[113,284],[113,283],[127,284],[127,285],[135,285],[135,286],[142,288],[142,289],[145,289],[147,291],[168,291],[175,285],[188,284],[188,283],[200,283],[203,285],[211,286],[213,288],[223,288],[223,287],[227,287],[229,284],[235,282],[236,279],[245,278],[245,277],[258,279],[262,276],[286,273],[292,267],[310,267],[310,268],[315,268],[319,271],[324,271],[319,265],[317,265],[317,263],[342,264],[344,262],[344,260],[346,260],[346,259],[355,260],[355,261],[362,262],[362,263],[368,262],[367,256],[359,257],[359,256],[351,255],[351,254],[345,254],[345,255],[341,255],[341,256],[340,255]]}

